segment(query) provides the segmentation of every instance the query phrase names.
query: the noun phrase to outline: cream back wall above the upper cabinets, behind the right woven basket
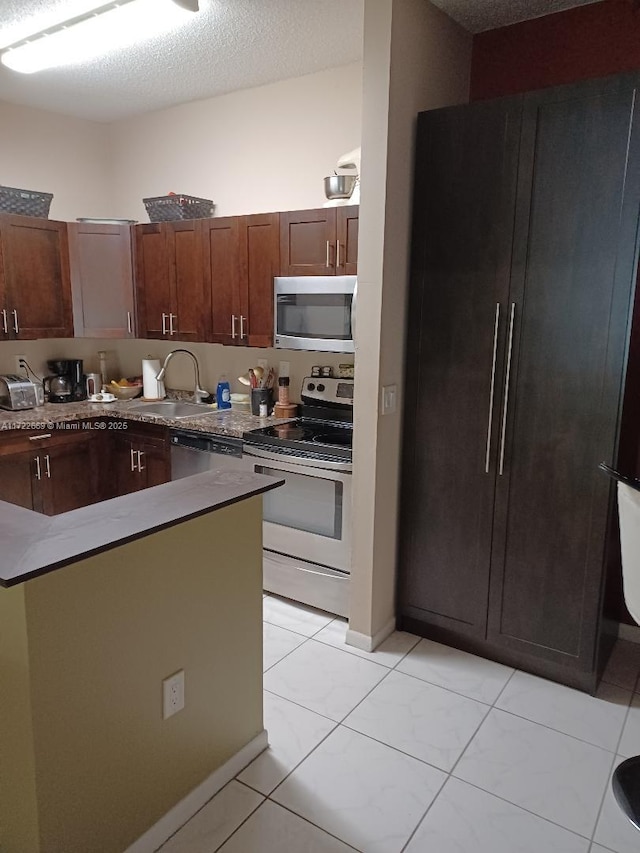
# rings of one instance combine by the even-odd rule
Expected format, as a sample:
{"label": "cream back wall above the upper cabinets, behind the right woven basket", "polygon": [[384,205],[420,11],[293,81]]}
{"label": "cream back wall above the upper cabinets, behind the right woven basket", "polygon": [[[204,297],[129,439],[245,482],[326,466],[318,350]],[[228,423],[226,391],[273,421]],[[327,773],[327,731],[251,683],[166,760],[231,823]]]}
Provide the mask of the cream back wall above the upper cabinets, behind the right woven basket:
{"label": "cream back wall above the upper cabinets, behind the right woven basket", "polygon": [[168,192],[210,198],[216,216],[321,207],[361,114],[354,63],[115,122],[112,215],[147,221],[141,199]]}

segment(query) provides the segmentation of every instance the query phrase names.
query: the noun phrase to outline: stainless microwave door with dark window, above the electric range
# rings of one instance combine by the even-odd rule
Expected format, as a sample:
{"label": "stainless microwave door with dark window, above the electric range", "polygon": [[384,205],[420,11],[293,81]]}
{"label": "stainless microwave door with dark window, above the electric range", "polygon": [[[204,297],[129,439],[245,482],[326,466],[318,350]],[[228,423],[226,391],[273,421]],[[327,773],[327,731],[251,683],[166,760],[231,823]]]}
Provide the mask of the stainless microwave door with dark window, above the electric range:
{"label": "stainless microwave door with dark window, above the electric range", "polygon": [[304,293],[278,296],[277,334],[294,338],[349,341],[351,293]]}

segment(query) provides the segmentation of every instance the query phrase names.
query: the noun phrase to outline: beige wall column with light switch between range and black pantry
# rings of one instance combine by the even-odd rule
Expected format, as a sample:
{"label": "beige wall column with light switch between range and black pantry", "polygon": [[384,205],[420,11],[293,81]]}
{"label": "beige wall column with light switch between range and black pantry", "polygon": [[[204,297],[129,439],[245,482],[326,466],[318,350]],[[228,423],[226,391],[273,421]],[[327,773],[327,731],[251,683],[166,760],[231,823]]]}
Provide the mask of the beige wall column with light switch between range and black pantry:
{"label": "beige wall column with light switch between range and black pantry", "polygon": [[[350,630],[393,625],[416,115],[468,99],[471,36],[427,0],[366,0]],[[366,357],[365,357],[366,356]],[[380,415],[380,387],[398,411]]]}

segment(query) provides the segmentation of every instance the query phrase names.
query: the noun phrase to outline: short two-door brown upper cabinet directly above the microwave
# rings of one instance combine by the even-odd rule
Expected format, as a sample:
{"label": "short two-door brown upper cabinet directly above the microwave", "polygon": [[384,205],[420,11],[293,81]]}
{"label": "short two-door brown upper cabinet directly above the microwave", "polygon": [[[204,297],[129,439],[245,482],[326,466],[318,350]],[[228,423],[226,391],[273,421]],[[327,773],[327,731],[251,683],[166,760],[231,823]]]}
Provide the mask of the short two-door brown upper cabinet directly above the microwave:
{"label": "short two-door brown upper cabinet directly above the microwave", "polygon": [[355,275],[357,205],[280,214],[280,275]]}

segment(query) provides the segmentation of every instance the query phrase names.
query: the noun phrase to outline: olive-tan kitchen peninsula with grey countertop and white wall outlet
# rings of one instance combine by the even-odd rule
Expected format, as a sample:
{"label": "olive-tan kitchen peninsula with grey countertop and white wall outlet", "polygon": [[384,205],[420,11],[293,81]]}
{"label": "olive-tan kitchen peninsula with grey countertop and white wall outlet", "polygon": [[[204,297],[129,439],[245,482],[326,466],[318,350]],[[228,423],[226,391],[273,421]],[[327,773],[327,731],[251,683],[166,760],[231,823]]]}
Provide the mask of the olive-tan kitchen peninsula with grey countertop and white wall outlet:
{"label": "olive-tan kitchen peninsula with grey countertop and white wall outlet", "polygon": [[267,746],[261,496],[281,483],[211,471],[53,517],[0,503],[2,850],[155,850]]}

